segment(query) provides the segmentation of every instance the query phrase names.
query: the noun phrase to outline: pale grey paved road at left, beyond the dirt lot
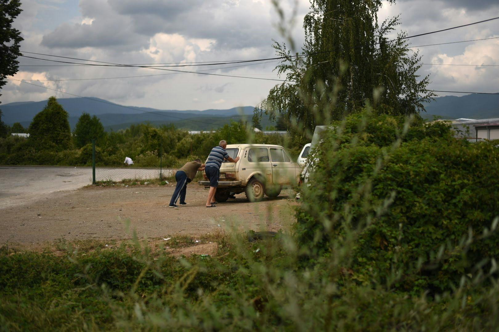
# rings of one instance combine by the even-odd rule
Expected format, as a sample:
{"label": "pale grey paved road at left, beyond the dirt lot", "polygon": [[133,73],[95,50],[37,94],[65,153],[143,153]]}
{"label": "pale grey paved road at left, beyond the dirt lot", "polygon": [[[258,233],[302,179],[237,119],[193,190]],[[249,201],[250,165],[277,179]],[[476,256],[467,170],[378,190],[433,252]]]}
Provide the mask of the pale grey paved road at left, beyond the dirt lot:
{"label": "pale grey paved road at left, beyond the dirt lot", "polygon": [[[172,170],[165,170],[172,171]],[[157,169],[97,168],[96,180],[151,179]],[[92,183],[91,167],[0,167],[0,210],[45,198],[47,194],[75,190]]]}

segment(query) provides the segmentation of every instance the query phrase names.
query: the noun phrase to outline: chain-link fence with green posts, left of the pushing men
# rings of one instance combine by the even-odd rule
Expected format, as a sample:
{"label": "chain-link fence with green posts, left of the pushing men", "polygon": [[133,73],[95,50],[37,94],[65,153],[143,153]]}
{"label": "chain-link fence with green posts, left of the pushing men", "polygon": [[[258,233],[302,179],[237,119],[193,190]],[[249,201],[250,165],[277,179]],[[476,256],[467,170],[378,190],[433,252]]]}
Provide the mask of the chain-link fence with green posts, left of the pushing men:
{"label": "chain-link fence with green posts, left of the pushing men", "polygon": [[[95,154],[95,141],[92,144],[92,183],[98,181],[118,182],[125,179],[146,180],[146,179],[165,179],[172,177],[175,170],[164,168],[164,159],[162,156],[162,146],[160,144],[157,155],[150,155],[139,160],[131,160],[133,164],[128,164],[123,157],[121,162],[106,162],[107,166],[98,166],[102,163],[99,156]],[[151,166],[153,165],[153,166]]]}

